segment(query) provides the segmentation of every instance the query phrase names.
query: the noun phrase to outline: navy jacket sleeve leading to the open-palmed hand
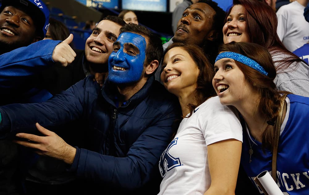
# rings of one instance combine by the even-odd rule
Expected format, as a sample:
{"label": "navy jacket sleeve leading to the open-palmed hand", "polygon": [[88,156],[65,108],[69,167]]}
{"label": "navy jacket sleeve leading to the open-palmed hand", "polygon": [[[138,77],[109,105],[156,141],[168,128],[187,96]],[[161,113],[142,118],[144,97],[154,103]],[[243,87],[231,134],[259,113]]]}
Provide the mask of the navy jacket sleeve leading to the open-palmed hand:
{"label": "navy jacket sleeve leading to the open-palmed hand", "polygon": [[159,171],[159,158],[171,141],[176,112],[175,106],[166,107],[168,109],[158,122],[133,143],[126,157],[117,158],[77,148],[71,171],[76,171],[79,177],[115,187],[141,187],[150,180],[154,171]]}

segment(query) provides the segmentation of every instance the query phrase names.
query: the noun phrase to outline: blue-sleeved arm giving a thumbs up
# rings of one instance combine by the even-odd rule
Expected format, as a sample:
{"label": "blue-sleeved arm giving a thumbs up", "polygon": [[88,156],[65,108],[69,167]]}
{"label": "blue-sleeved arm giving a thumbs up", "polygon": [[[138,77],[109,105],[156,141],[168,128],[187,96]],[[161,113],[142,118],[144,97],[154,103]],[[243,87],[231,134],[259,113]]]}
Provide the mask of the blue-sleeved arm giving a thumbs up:
{"label": "blue-sleeved arm giving a thumbs up", "polygon": [[76,56],[69,46],[72,40],[73,35],[62,42],[42,40],[0,55],[0,93],[18,89],[28,76],[42,71],[48,65],[61,63],[66,66],[71,63]]}

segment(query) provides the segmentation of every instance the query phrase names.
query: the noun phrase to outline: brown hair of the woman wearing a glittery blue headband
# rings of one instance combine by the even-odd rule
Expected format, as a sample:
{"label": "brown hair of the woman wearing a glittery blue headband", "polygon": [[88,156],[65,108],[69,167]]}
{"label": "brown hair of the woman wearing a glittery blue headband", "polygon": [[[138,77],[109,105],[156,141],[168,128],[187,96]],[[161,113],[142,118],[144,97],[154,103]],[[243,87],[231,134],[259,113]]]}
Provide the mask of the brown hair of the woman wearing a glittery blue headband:
{"label": "brown hair of the woman wearing a glittery blue headband", "polygon": [[[276,77],[276,68],[273,65],[273,60],[268,50],[255,43],[231,42],[221,46],[220,52],[224,51],[231,51],[247,56],[259,63],[265,71],[268,72],[268,76],[265,76],[255,69],[235,61],[239,69],[243,72],[249,85],[252,85],[253,89],[260,94],[260,102],[258,102],[260,113],[267,116],[268,121],[276,122],[280,105],[280,93],[289,92],[277,90],[277,87],[273,82]],[[263,148],[269,148],[272,150],[274,137],[274,126],[268,124],[262,134]]]}

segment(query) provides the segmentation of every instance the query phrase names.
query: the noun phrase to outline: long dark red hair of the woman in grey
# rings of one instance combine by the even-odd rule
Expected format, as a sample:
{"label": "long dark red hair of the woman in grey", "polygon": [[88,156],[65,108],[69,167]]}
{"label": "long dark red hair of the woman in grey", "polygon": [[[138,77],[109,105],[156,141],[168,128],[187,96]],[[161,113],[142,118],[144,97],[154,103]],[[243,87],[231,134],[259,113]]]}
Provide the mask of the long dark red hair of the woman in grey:
{"label": "long dark red hair of the woman in grey", "polygon": [[[233,4],[242,5],[246,10],[250,42],[266,47],[270,53],[276,52],[286,56],[283,59],[274,61],[279,64],[276,67],[277,72],[285,70],[291,63],[304,62],[287,50],[280,41],[277,35],[277,15],[270,6],[257,0],[233,0]],[[227,12],[226,19],[230,15],[232,8]]]}

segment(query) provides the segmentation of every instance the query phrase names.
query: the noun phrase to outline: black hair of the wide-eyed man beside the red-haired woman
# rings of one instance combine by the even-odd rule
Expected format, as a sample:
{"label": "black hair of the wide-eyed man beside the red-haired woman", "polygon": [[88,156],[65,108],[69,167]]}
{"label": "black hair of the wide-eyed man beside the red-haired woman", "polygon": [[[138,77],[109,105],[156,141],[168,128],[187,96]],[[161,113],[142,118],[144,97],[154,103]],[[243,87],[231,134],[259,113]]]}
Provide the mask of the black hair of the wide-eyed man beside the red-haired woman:
{"label": "black hair of the wide-eyed man beside the red-haired woman", "polygon": [[218,33],[218,36],[214,41],[208,41],[203,48],[205,53],[209,56],[210,62],[214,63],[218,54],[218,48],[223,43],[222,28],[224,25],[226,12],[223,11],[222,8],[218,6],[218,3],[212,0],[199,0],[198,3],[206,3],[216,12],[213,18],[212,29],[214,29]]}

